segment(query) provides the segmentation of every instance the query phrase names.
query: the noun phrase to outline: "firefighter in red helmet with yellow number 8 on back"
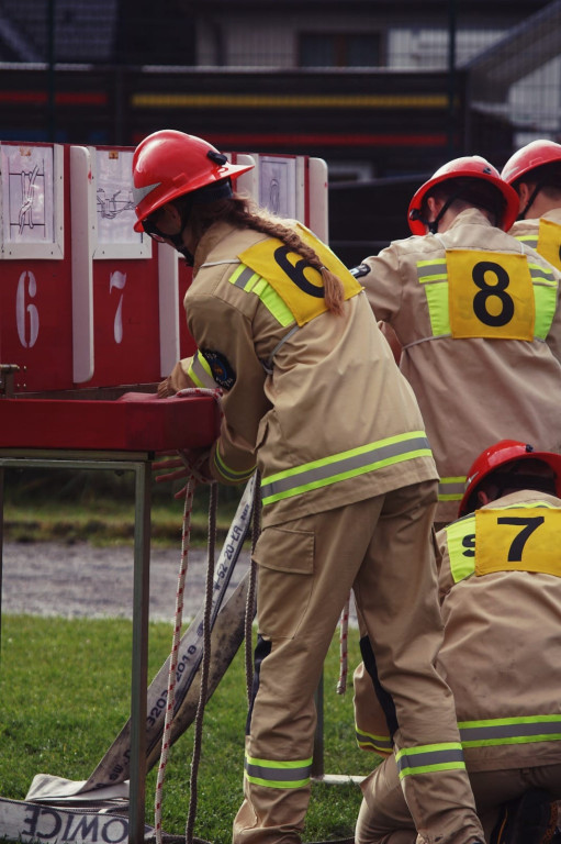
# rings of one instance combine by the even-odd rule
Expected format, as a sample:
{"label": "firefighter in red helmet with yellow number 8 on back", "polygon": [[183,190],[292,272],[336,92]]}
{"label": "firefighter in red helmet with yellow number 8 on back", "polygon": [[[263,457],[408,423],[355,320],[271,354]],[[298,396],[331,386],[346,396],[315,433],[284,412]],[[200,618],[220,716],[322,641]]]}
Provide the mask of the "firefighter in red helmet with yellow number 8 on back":
{"label": "firefighter in red helmet with yellow number 8 on back", "polygon": [[352,270],[400,341],[440,475],[439,526],[485,443],[561,448],[561,273],[507,234],[517,211],[489,162],[456,158],[414,195],[413,236]]}

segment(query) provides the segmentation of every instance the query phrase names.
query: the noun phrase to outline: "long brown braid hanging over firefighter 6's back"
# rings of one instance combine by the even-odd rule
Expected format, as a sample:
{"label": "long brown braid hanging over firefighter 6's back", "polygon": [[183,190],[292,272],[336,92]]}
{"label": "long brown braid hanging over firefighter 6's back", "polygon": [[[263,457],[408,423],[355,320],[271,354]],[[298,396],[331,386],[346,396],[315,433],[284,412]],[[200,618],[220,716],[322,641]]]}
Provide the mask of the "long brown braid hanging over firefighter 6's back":
{"label": "long brown braid hanging over firefighter 6's back", "polygon": [[221,199],[207,204],[193,204],[189,215],[189,229],[198,243],[204,232],[216,222],[225,222],[236,229],[253,229],[256,232],[277,237],[295,252],[322,275],[324,298],[327,309],[340,316],[345,301],[341,280],[327,267],[324,267],[316,252],[280,216],[271,214],[256,206],[251,199],[234,193],[228,199]]}

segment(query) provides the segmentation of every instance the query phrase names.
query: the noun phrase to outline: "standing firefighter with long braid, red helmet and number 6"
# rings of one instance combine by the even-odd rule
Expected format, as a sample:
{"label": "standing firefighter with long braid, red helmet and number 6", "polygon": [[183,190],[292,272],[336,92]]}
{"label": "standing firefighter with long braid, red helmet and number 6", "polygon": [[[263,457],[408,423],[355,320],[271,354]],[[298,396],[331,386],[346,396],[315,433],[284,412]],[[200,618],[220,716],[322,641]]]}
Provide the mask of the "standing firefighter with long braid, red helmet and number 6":
{"label": "standing firefighter with long braid, red helmet and number 6", "polygon": [[305,226],[233,193],[239,173],[172,131],[133,158],[136,229],[193,265],[184,307],[198,351],[162,392],[221,388],[220,436],[199,468],[235,484],[257,466],[261,478],[256,675],[234,842],[300,841],[314,693],[351,588],[395,702],[415,823],[430,842],[481,842],[453,700],[434,665],[437,474],[418,406],[361,286]]}

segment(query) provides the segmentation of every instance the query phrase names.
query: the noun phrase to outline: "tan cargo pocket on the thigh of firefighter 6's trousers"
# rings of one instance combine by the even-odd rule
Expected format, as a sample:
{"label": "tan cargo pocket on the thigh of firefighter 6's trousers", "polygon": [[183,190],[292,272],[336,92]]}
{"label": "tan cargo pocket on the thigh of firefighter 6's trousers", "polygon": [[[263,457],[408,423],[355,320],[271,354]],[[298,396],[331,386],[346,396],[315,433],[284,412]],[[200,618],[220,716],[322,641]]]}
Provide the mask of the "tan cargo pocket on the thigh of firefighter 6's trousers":
{"label": "tan cargo pocket on the thigh of firefighter 6's trousers", "polygon": [[314,584],[312,531],[266,528],[254,551],[259,566],[257,613],[266,638],[292,638],[306,611]]}

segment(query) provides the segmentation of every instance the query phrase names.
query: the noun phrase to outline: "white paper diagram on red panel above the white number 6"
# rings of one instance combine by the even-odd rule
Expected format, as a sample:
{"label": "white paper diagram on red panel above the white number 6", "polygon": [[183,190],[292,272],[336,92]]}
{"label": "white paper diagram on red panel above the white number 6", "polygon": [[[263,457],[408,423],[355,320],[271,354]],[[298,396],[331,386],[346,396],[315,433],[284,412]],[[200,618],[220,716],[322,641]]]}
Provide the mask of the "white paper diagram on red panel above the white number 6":
{"label": "white paper diagram on red panel above the white number 6", "polygon": [[2,145],[1,171],[3,243],[54,243],[53,148]]}

